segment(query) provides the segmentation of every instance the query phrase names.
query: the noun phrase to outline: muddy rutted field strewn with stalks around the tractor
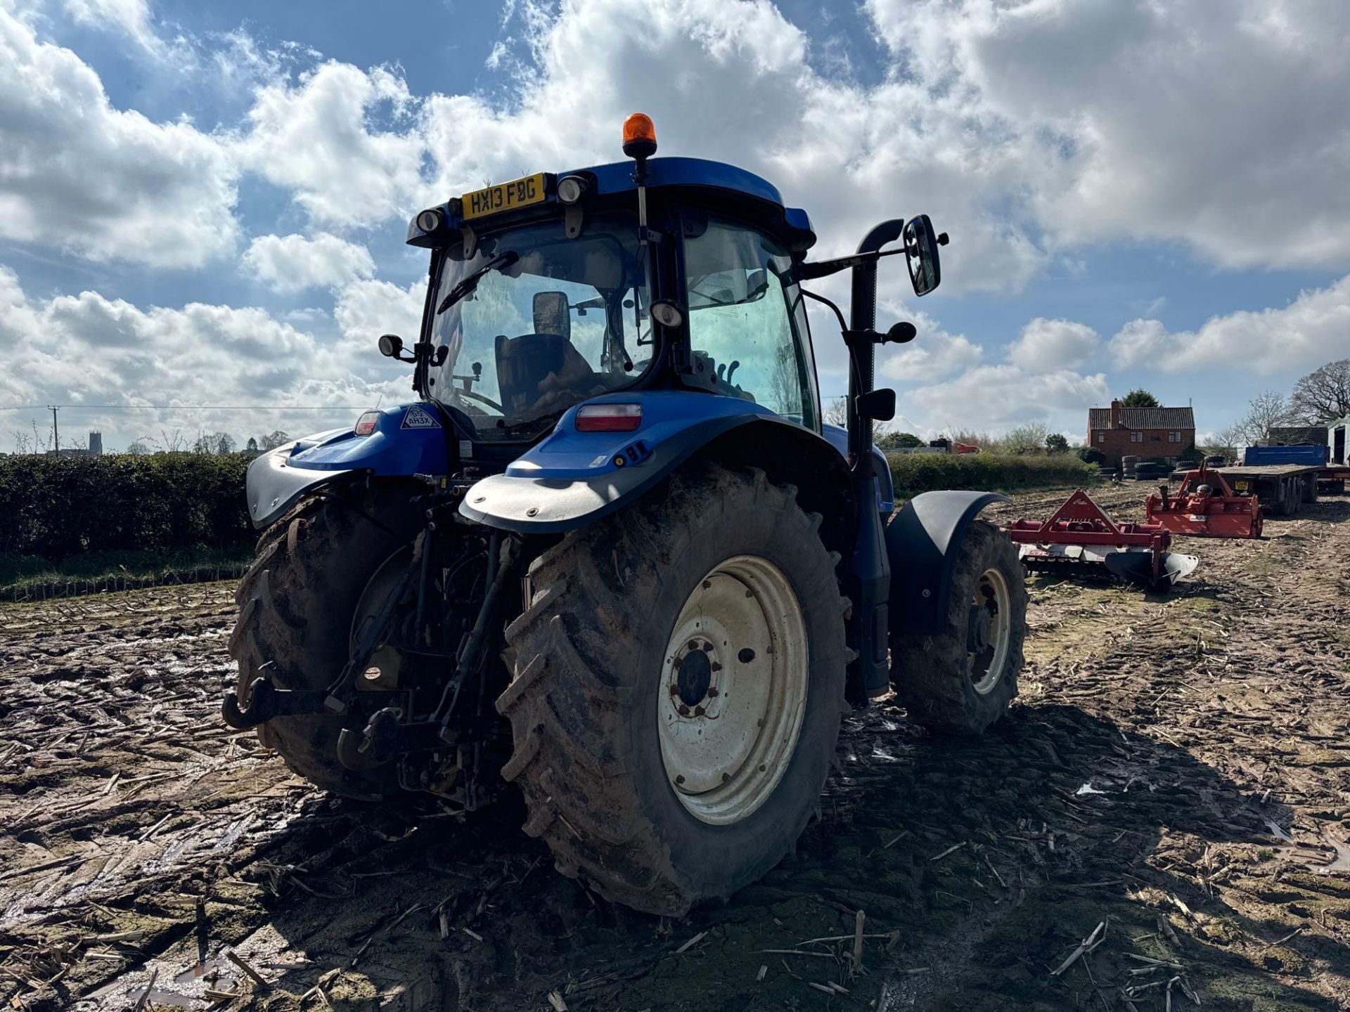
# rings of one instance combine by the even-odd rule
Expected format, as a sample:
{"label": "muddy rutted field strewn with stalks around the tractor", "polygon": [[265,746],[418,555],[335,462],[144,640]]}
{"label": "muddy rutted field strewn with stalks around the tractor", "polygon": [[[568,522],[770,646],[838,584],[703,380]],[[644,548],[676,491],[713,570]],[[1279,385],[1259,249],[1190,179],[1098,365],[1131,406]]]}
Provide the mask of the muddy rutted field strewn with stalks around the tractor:
{"label": "muddy rutted field strewn with stalks around the tractor", "polygon": [[674,923],[518,807],[335,800],[224,727],[230,586],[0,606],[0,1004],[1350,1008],[1350,498],[1265,530],[1169,595],[1033,578],[1008,719],[848,719],[798,853]]}

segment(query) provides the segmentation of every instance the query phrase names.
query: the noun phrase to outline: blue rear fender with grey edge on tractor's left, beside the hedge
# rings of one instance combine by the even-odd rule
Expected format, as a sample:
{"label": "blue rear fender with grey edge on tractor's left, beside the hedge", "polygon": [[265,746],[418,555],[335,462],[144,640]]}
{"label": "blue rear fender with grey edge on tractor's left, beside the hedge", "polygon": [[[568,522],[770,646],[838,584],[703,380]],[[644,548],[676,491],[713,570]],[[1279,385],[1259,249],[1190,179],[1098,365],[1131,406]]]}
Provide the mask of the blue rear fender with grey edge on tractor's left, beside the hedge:
{"label": "blue rear fender with grey edge on tractor's left, beside the hedge", "polygon": [[385,407],[369,436],[351,428],[329,429],[267,451],[248,464],[248,515],[255,528],[266,528],[305,493],[344,476],[448,472],[440,409],[433,403]]}

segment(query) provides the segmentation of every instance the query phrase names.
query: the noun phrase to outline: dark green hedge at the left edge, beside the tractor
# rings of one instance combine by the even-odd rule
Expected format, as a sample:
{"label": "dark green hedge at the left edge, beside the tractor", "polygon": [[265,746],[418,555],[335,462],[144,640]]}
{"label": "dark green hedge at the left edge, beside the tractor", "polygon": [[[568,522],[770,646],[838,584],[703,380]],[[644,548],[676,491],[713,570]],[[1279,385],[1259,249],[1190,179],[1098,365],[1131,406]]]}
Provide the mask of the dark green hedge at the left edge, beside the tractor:
{"label": "dark green hedge at the left edge, beside the tractor", "polygon": [[0,553],[227,548],[255,537],[251,453],[0,457]]}

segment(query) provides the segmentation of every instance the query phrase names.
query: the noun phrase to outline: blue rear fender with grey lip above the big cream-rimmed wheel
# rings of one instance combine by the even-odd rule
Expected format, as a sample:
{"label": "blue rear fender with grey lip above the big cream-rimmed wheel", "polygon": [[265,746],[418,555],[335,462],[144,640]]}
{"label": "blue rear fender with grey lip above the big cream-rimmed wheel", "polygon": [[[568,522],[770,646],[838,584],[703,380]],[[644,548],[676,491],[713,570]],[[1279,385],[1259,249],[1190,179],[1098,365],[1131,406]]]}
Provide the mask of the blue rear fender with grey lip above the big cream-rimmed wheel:
{"label": "blue rear fender with grey lip above the big cream-rimmed wheel", "polygon": [[[505,474],[491,475],[468,490],[459,506],[466,518],[504,530],[563,533],[586,526],[637,499],[686,460],[717,441],[725,444],[747,426],[761,433],[765,445],[782,434],[791,445],[811,444],[844,467],[842,457],[815,433],[780,418],[763,405],[721,394],[649,390],[606,394],[586,403],[640,403],[643,420],[633,432],[579,432],[570,409],[552,434],[512,461]],[[759,459],[738,447],[737,463]],[[802,453],[803,457],[807,453]]]}

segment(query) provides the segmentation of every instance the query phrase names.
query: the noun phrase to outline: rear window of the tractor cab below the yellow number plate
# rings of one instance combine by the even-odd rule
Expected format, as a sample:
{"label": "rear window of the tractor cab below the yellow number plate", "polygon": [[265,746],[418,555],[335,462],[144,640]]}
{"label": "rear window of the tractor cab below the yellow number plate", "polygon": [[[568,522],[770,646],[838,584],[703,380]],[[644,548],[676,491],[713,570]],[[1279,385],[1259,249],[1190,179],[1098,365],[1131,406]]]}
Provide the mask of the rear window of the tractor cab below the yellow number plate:
{"label": "rear window of the tractor cab below the yellow number plate", "polygon": [[[554,220],[479,236],[467,259],[451,248],[432,301],[436,312],[451,300],[432,324],[448,349],[432,395],[478,439],[525,440],[636,382],[653,355],[648,274],[636,216],[624,213],[587,216],[574,239]],[[468,290],[454,300],[456,286]]]}

